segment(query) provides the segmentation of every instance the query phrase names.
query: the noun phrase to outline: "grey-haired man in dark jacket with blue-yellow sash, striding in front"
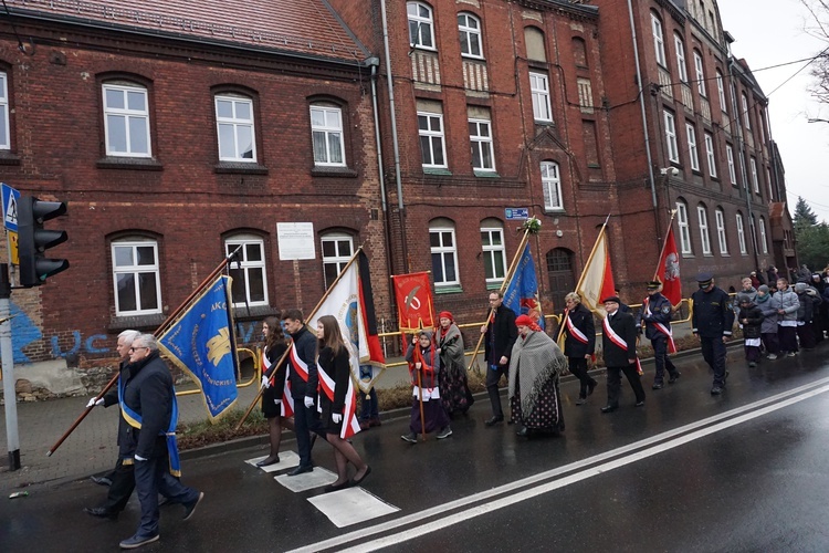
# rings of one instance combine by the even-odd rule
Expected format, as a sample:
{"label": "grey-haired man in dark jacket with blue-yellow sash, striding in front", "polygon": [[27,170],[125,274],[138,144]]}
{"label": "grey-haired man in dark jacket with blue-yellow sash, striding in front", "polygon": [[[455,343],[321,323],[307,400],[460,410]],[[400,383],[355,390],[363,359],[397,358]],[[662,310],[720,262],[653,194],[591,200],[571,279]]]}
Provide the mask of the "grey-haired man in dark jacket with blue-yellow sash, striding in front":
{"label": "grey-haired man in dark jacket with blue-yellow sash, striding in front", "polygon": [[151,334],[141,334],[129,348],[130,374],[122,393],[122,415],[130,426],[135,459],[135,487],[141,504],[141,521],[135,535],[120,542],[136,549],[158,540],[158,493],[185,507],[185,520],[192,517],[204,497],[183,486],[176,447],[176,390],[172,376],[158,353]]}

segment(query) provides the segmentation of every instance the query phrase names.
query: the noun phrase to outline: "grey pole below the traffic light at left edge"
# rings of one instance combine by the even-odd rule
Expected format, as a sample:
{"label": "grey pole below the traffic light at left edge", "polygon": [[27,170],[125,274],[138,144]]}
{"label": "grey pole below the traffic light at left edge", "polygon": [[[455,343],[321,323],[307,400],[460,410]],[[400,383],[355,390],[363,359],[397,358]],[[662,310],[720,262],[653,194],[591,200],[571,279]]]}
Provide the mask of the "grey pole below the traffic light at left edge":
{"label": "grey pole below the traffic light at left edge", "polygon": [[18,436],[18,396],[14,392],[14,352],[11,346],[11,282],[9,265],[0,263],[0,354],[3,363],[3,398],[6,399],[6,444],[9,470],[20,469]]}

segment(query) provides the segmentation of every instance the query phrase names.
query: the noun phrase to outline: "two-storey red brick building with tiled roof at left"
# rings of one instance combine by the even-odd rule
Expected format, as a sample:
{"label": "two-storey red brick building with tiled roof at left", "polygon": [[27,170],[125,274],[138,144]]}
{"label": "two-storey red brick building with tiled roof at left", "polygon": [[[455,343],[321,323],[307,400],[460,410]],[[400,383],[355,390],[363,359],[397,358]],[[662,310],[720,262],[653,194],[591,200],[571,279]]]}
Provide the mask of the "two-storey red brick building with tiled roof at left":
{"label": "two-storey red brick building with tiled roof at left", "polygon": [[[17,363],[111,364],[238,244],[242,342],[309,311],[360,244],[388,281],[371,60],[324,1],[6,4],[0,173],[69,202],[48,226],[72,265],[13,292]],[[313,225],[311,259],[282,259],[280,222]]]}

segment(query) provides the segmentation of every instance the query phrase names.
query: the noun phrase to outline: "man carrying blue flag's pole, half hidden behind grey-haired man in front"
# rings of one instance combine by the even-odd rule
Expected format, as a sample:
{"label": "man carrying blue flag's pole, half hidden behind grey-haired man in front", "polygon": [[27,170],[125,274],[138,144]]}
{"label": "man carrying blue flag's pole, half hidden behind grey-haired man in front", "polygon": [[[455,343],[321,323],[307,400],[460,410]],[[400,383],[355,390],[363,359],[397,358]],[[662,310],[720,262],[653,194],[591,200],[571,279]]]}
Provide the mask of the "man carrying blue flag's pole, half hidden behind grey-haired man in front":
{"label": "man carrying blue flag's pole, half hidden behind grey-haired man in front", "polygon": [[[120,365],[118,367],[118,384],[114,386],[106,395],[97,401],[93,397],[86,407],[95,407],[96,405],[103,405],[109,407],[111,405],[118,405],[118,389],[126,384],[129,379],[129,348],[133,346],[133,341],[138,337],[140,333],[138,331],[124,331],[118,334],[118,342],[116,351],[120,355]],[[127,507],[129,495],[133,494],[135,489],[135,473],[133,465],[133,456],[135,450],[133,449],[133,441],[129,439],[130,426],[124,419],[118,416],[118,460],[115,463],[115,470],[113,470],[107,477],[93,478],[95,483],[101,483],[101,480],[109,480],[109,490],[106,493],[106,501],[99,507],[85,507],[84,512],[93,517],[101,519],[115,520],[118,518],[118,513]]]}

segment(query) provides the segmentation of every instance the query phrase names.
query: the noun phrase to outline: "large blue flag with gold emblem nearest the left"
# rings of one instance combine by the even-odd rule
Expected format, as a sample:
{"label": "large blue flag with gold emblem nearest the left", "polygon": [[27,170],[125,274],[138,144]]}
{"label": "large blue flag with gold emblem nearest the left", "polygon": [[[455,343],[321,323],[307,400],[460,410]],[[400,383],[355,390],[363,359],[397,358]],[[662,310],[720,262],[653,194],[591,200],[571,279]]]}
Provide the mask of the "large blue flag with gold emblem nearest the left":
{"label": "large blue flag with gold emblem nearest the left", "polygon": [[211,421],[239,395],[230,282],[230,276],[217,278],[158,338],[161,351],[201,389]]}

